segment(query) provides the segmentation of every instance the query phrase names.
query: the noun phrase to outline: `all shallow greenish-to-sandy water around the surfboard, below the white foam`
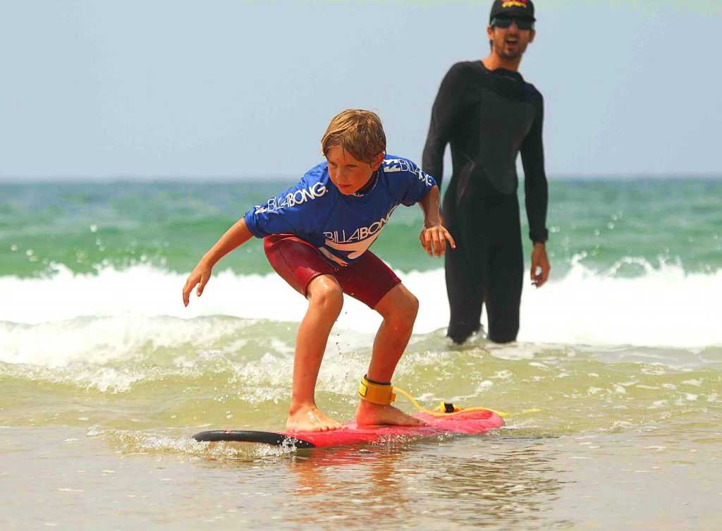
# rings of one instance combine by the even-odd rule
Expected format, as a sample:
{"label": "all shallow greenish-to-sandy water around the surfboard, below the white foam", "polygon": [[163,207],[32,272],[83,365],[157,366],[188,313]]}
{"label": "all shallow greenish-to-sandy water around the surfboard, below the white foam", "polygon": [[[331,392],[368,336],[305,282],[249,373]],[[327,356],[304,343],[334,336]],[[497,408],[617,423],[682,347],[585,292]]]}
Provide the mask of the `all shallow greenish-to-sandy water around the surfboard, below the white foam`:
{"label": "all shallow greenish-to-sandy water around the surfboard, below the white foam", "polygon": [[[347,340],[370,340],[362,336]],[[389,530],[716,529],[722,349],[685,358],[443,345],[440,333],[414,337],[399,387],[429,406],[451,398],[540,411],[484,436],[301,451],[206,444],[193,433],[282,428],[291,353],[230,349],[182,365],[173,354],[147,355],[94,371],[3,364],[4,529],[354,530],[369,517]],[[366,360],[327,353],[318,400],[329,413],[350,418]]]}

